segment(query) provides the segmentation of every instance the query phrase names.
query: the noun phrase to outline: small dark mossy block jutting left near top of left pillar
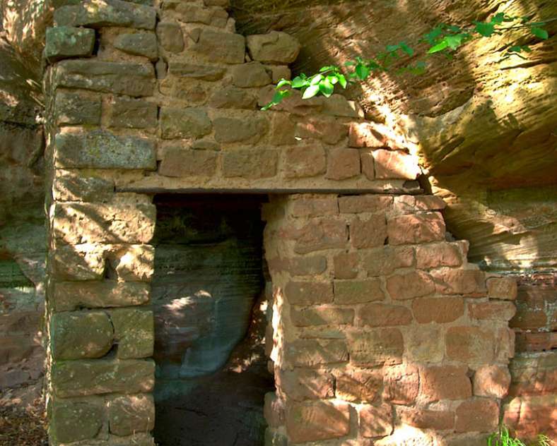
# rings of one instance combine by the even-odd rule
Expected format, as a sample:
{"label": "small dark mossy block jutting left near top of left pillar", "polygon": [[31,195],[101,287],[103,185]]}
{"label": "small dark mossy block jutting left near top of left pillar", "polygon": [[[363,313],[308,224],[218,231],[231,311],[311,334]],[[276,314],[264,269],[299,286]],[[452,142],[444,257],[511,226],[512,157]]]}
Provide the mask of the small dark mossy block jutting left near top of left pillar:
{"label": "small dark mossy block jutting left near top of left pillar", "polygon": [[46,35],[45,57],[49,61],[93,54],[95,31],[61,26],[49,28]]}

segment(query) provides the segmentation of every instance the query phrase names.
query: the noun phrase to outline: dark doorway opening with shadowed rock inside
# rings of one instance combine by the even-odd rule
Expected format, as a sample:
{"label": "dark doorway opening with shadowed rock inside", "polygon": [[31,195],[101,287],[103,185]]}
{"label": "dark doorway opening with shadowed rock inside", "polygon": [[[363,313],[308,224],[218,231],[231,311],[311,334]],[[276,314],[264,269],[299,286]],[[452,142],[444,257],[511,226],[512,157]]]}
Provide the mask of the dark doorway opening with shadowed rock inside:
{"label": "dark doorway opening with shadowed rock inside", "polygon": [[264,195],[156,195],[156,428],[159,446],[261,446]]}

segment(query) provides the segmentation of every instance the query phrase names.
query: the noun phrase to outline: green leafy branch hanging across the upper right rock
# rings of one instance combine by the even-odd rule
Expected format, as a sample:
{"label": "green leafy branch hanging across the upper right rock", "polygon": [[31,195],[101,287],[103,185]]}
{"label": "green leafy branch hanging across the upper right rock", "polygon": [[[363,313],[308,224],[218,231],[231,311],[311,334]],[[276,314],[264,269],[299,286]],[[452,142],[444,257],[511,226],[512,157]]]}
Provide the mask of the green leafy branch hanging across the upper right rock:
{"label": "green leafy branch hanging across the upper right rock", "polygon": [[[497,13],[488,22],[474,22],[467,28],[460,28],[455,25],[440,23],[433,30],[430,30],[420,42],[428,45],[426,54],[423,57],[433,54],[442,54],[447,58],[452,58],[453,54],[462,45],[480,38],[489,38],[493,35],[503,35],[512,30],[528,30],[530,35],[540,40],[549,39],[549,32],[542,28],[546,23],[553,22],[557,18],[534,22],[528,17],[512,17],[505,13]],[[524,54],[532,52],[528,45],[507,44],[504,47],[503,60],[512,56],[526,59]],[[390,71],[394,64],[399,61],[414,57],[416,50],[409,47],[406,42],[399,42],[394,45],[387,45],[384,52],[380,52],[372,59],[356,57],[353,61],[344,64],[344,71],[339,66],[329,65],[319,69],[319,73],[312,76],[300,74],[292,80],[281,79],[276,85],[276,92],[273,99],[262,110],[268,110],[280,104],[286,97],[292,94],[292,90],[300,90],[302,99],[310,99],[317,95],[329,97],[334,93],[336,85],[346,88],[348,83],[362,82],[372,73],[382,73]],[[394,71],[397,74],[411,73],[420,75],[426,73],[427,64],[425,60],[419,60],[412,64],[399,66]]]}

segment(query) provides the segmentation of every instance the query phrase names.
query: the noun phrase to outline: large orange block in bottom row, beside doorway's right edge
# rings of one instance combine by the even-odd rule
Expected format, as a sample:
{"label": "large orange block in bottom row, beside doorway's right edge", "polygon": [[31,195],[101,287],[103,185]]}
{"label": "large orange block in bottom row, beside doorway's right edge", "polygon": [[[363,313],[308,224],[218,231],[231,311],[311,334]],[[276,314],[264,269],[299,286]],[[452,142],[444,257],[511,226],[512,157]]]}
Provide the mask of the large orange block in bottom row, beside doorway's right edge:
{"label": "large orange block in bottom row, beside doorway's right edge", "polygon": [[344,437],[349,430],[348,404],[295,403],[286,408],[286,431],[292,442]]}

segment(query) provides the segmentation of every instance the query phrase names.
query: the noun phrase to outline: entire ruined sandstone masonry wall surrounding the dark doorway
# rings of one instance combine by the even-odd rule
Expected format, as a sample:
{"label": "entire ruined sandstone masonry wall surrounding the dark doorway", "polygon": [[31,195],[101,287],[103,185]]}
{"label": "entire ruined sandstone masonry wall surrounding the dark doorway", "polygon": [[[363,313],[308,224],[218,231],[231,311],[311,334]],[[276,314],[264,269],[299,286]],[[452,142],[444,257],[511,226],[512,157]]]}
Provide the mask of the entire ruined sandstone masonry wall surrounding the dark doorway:
{"label": "entire ruined sandstone masonry wall surrounding the dark doorway", "polygon": [[479,445],[496,430],[516,285],[447,241],[404,138],[340,95],[259,111],[300,45],[236,34],[227,0],[53,3],[53,446],[153,445],[159,192],[271,194],[267,445]]}

